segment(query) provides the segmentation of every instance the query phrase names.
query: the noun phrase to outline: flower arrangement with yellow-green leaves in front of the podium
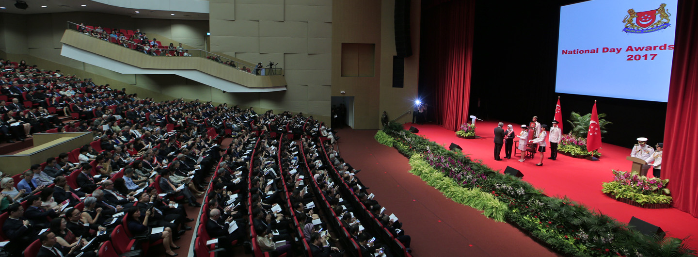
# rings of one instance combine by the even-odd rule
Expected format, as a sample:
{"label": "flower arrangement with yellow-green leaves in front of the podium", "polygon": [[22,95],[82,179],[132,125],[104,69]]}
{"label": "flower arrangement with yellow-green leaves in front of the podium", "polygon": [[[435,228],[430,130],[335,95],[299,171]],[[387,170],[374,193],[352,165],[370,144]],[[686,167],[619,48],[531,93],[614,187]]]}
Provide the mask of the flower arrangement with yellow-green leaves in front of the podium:
{"label": "flower arrangement with yellow-green leaves in front of the podium", "polygon": [[614,178],[603,184],[603,193],[640,207],[668,208],[671,205],[672,198],[667,189],[669,179],[648,178],[637,171],[612,171]]}

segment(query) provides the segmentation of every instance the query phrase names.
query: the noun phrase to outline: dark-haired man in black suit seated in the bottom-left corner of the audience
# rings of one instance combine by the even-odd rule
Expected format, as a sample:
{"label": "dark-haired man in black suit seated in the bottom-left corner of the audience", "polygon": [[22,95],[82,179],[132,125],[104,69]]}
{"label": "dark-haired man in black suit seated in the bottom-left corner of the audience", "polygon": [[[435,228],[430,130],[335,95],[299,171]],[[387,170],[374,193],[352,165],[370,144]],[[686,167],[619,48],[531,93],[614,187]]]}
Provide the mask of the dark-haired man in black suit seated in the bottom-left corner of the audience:
{"label": "dark-haired man in black suit seated in the bottom-left corner of the audience", "polygon": [[22,251],[36,240],[37,231],[31,226],[29,220],[24,219],[24,207],[15,203],[7,207],[10,214],[3,223],[2,230],[7,235],[10,243],[5,246],[5,251],[10,256],[22,256]]}

